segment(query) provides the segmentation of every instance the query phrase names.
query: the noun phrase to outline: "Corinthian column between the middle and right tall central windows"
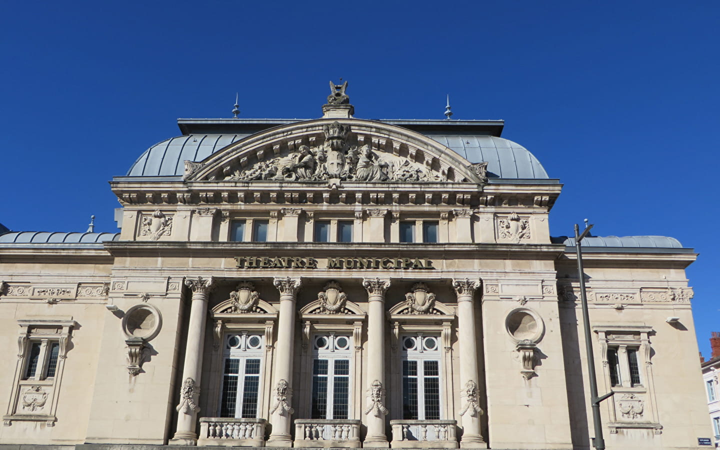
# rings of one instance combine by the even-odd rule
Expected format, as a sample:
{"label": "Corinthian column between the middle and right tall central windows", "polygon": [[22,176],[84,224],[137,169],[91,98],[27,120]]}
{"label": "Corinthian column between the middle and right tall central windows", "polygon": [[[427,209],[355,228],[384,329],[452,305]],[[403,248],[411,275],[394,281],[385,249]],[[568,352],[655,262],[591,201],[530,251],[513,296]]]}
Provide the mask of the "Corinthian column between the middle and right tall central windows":
{"label": "Corinthian column between the middle and right tall central windows", "polygon": [[364,447],[386,447],[385,415],[385,291],[390,287],[389,279],[364,279],[367,289],[367,384],[368,396],[365,410],[367,435]]}

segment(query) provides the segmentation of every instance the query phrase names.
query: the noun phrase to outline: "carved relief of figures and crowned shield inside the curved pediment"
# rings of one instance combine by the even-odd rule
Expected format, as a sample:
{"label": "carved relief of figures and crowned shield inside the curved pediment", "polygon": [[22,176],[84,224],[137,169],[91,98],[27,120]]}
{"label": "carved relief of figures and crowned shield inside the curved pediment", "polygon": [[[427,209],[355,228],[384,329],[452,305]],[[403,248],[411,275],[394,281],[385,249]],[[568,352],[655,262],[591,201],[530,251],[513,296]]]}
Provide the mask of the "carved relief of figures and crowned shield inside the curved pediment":
{"label": "carved relief of figures and crowned shield inside the curved pediment", "polygon": [[423,164],[374,150],[372,145],[351,145],[350,125],[333,122],[323,127],[325,142],[245,169],[230,169],[225,180],[252,181],[448,181]]}

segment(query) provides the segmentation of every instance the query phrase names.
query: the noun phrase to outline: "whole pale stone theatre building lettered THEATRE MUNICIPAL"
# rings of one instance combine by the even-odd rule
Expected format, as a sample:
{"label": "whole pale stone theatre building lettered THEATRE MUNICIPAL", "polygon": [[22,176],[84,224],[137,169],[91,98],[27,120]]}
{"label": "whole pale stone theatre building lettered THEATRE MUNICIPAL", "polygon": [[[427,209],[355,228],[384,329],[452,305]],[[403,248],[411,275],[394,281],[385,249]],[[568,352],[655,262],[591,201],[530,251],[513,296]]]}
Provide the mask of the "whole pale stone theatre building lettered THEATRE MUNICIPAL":
{"label": "whole pale stone theatre building lettered THEATRE MUNICIPAL", "polygon": [[[120,233],[0,234],[0,444],[590,448],[559,180],[503,121],[357,119],[346,86],[179,120],[110,182]],[[583,244],[608,449],[698,448],[696,254]]]}

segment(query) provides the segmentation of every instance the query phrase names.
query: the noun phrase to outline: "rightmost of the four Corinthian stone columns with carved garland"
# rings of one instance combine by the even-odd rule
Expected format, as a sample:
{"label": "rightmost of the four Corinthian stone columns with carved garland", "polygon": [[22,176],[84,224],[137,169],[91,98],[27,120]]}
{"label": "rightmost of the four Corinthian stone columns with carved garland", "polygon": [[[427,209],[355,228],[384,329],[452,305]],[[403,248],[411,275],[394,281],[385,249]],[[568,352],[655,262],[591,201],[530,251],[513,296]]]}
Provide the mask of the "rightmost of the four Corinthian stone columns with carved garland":
{"label": "rightmost of the four Corinthian stone columns with carved garland", "polygon": [[458,342],[460,344],[460,382],[463,383],[462,449],[487,449],[480,434],[480,415],[482,408],[477,402],[477,340],[475,338],[475,312],[472,302],[475,289],[480,287],[479,279],[454,279],[452,282],[457,294]]}

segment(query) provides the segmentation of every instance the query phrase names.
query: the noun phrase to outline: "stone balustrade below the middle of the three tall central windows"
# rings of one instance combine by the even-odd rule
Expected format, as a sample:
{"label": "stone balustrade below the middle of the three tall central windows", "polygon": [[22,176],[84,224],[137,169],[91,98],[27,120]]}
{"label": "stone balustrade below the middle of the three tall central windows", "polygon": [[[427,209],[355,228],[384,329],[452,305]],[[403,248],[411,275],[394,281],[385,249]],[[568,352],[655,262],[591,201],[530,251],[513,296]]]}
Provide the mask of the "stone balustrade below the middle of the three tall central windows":
{"label": "stone balustrade below the middle of the three tall central windows", "polygon": [[295,419],[296,447],[360,448],[360,420]]}

